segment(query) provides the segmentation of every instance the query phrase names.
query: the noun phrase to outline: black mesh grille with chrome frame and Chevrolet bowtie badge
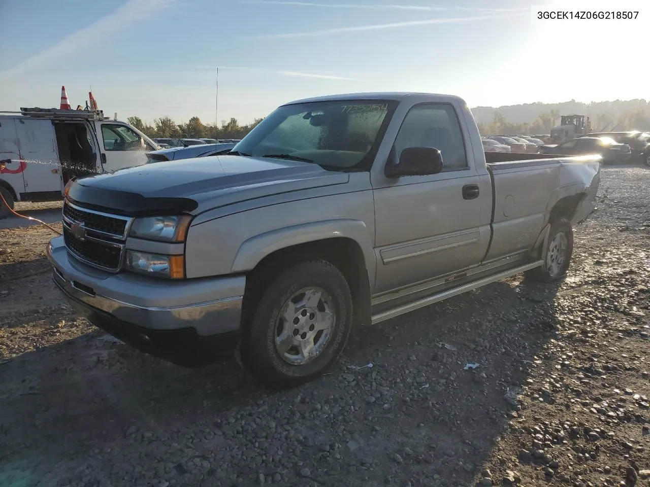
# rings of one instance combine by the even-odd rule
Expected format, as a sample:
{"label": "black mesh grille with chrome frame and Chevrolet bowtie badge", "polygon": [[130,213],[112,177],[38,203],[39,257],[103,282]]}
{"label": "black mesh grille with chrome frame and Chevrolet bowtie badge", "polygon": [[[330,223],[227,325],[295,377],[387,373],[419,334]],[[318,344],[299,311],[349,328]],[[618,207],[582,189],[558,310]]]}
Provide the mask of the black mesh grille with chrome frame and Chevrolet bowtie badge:
{"label": "black mesh grille with chrome frame and Chevrolet bowtie badge", "polygon": [[109,272],[122,269],[132,218],[81,208],[65,201],[63,236],[70,255]]}

